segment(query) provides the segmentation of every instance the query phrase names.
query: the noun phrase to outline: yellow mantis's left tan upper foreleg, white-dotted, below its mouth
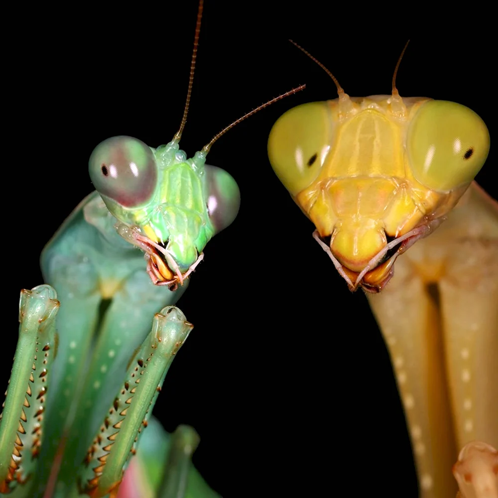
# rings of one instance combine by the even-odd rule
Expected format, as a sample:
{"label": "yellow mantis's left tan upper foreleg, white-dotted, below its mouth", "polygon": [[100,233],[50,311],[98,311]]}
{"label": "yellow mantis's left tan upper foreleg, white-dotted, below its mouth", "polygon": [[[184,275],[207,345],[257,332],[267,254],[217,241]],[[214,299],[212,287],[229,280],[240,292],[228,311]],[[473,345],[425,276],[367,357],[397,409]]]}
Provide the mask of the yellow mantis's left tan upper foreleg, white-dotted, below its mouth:
{"label": "yellow mantis's left tan upper foreleg, white-dotted, below its mouth", "polygon": [[[413,249],[413,248],[412,248]],[[436,303],[400,256],[395,275],[369,302],[387,344],[412,442],[420,496],[455,498],[456,446]]]}

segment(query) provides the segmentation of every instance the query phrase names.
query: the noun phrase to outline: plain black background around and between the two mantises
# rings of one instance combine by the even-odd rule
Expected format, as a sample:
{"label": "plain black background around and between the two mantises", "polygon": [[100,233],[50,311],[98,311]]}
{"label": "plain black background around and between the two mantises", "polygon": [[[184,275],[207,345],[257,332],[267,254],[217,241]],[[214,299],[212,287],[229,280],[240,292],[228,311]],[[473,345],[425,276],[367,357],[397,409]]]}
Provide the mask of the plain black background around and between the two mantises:
{"label": "plain black background around and between the two mantises", "polygon": [[[109,13],[76,6],[11,20],[16,34],[6,51],[2,113],[10,157],[3,166],[5,384],[18,292],[42,283],[41,249],[93,190],[92,149],[119,134],[157,146],[178,128],[197,13],[195,0],[183,3]],[[238,181],[242,206],[208,244],[178,303],[195,328],[154,412],[170,431],[179,423],[197,429],[194,462],[225,497],[341,496],[343,486],[354,496],[417,496],[389,358],[366,298],[348,291],[266,156],[281,114],[337,96],[288,38],[325,64],[349,95],[390,93],[411,33],[399,28],[397,14],[366,14],[362,29],[353,26],[355,12],[345,15],[329,15],[313,1],[293,12],[283,4],[274,11],[205,5],[180,144],[189,156],[254,107],[307,84],[238,125],[209,154],[208,163]],[[336,31],[338,24],[348,30]],[[413,36],[397,86],[401,96],[471,107],[494,136],[490,44],[462,31]],[[497,197],[494,157],[492,149],[478,181]]]}

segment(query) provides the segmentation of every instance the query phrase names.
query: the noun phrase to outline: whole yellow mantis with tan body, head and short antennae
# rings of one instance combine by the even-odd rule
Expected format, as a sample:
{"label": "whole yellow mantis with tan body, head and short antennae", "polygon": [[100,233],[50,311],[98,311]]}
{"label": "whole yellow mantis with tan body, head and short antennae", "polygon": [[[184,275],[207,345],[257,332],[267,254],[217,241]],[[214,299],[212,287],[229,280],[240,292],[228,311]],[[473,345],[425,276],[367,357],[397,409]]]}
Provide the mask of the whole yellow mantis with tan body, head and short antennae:
{"label": "whole yellow mantis with tan body, head and short antennae", "polygon": [[[339,98],[285,113],[270,163],[350,289],[368,293],[421,497],[455,497],[459,458],[461,496],[497,498],[498,204],[473,182],[488,129],[460,104],[401,98],[396,71],[391,95],[351,98],[324,69]],[[475,440],[487,444],[458,457]]]}

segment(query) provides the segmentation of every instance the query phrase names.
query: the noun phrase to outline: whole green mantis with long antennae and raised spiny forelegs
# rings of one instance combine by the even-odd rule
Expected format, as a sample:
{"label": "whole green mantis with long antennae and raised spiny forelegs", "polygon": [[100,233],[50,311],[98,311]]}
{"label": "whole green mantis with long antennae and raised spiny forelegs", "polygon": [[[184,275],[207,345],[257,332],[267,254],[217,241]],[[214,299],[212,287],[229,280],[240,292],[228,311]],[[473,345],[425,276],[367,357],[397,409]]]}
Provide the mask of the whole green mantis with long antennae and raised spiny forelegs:
{"label": "whole green mantis with long antennae and raised spiny forelegs", "polygon": [[[191,329],[172,305],[206,244],[239,210],[237,183],[226,171],[206,165],[206,155],[233,125],[304,88],[258,107],[188,159],[179,141],[202,10],[200,1],[178,132],[156,149],[127,136],[95,148],[89,172],[97,191],[43,250],[46,285],[21,293],[19,344],[0,422],[1,493],[117,496],[138,435],[149,423],[157,426],[149,418],[151,409]],[[147,493],[158,489],[163,496],[183,496],[186,486],[192,496],[215,496],[190,466],[197,437],[192,434],[179,429],[166,452],[166,436],[154,432],[164,443],[162,463],[171,462],[168,479],[161,484],[165,470],[150,463],[152,456],[148,463],[156,470],[148,475],[150,489],[134,496],[152,496]],[[158,442],[149,438],[147,444]]]}

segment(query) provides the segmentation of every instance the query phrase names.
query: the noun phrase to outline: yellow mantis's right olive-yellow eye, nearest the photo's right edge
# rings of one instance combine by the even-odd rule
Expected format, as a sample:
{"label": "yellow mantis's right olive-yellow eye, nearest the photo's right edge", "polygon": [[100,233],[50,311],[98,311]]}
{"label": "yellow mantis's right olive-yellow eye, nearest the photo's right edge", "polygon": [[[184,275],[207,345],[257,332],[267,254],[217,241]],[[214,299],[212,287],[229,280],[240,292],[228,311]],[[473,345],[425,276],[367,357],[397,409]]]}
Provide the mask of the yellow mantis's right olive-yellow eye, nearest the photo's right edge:
{"label": "yellow mantis's right olive-yellow eye, nearest the photo's right edge", "polygon": [[484,121],[454,102],[426,102],[408,129],[407,151],[413,175],[436,191],[472,182],[489,150],[490,134]]}

